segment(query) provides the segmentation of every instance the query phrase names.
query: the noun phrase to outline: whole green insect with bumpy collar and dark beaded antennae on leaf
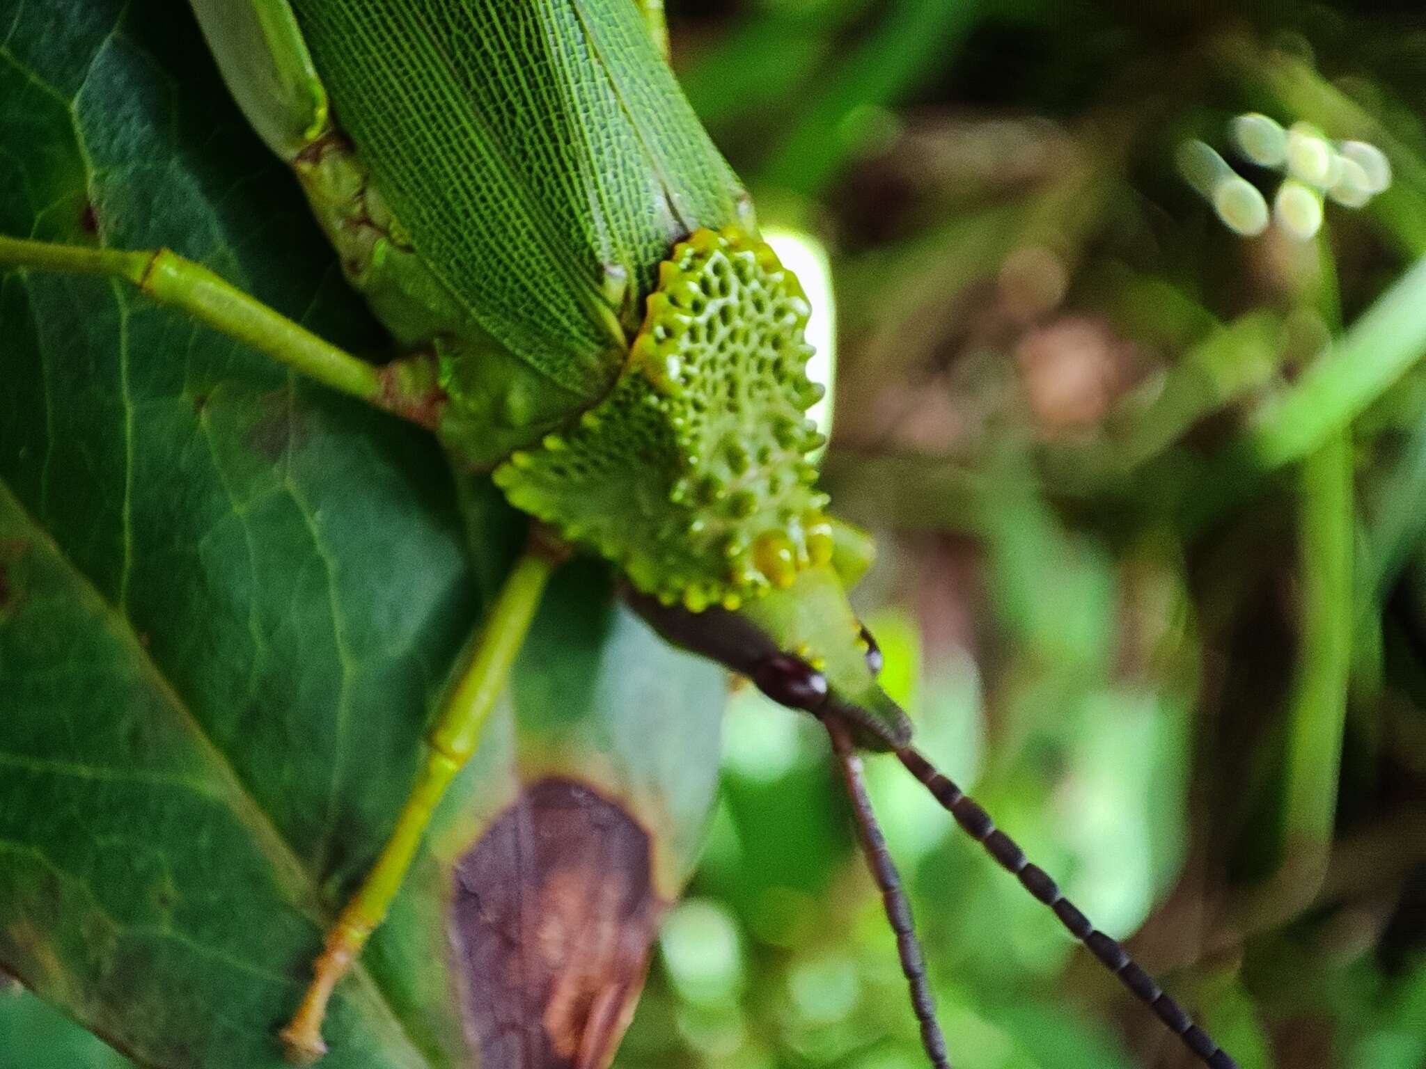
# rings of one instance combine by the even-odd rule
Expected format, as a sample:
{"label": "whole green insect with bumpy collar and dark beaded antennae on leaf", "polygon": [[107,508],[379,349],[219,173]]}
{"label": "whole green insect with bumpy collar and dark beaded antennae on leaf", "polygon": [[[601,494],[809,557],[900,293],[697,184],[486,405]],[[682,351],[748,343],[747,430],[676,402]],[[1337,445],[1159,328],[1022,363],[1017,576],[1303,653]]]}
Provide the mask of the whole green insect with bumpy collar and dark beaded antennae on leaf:
{"label": "whole green insect with bumpy collar and dark beaded antennae on leaf", "polygon": [[910,745],[848,590],[870,542],[810,460],[810,314],[665,61],[657,0],[193,0],[240,107],[288,162],[401,356],[374,366],[160,251],[0,238],[0,265],[125,279],[327,386],[429,428],[533,517],[391,840],[327,935],[282,1039],[329,996],[472,755],[552,572],[609,562],[674,644],[827,727],[948,1065],[910,911],[860,780],[896,753],[994,859],[1209,1066],[1233,1060]]}

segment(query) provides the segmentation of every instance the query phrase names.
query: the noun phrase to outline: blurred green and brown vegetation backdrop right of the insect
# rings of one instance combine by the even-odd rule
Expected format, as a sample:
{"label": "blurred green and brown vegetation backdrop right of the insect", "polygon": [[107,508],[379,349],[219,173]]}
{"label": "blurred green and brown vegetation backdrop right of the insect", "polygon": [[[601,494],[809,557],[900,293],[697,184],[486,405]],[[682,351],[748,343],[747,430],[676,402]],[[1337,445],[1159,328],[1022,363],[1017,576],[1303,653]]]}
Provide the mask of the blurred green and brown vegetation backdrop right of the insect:
{"label": "blurred green and brown vegetation backdrop right of the insect", "polygon": [[[923,747],[1243,1066],[1426,1066],[1420,4],[667,6],[761,222],[829,249],[826,477]],[[1243,113],[1390,187],[1215,210],[1185,144],[1283,187]],[[723,767],[617,1065],[924,1066],[817,727],[737,693]],[[1191,1063],[868,771],[957,1066]]]}

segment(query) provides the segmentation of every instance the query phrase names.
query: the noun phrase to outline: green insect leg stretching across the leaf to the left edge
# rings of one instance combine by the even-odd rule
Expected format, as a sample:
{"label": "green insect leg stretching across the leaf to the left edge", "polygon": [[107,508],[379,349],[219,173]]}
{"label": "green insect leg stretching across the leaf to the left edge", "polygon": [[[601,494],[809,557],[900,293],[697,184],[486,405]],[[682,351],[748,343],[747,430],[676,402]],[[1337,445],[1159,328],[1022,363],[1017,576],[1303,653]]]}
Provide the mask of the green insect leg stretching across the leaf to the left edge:
{"label": "green insect leg stretching across the leaf to the left edge", "polygon": [[416,363],[372,366],[168,249],[124,252],[0,237],[0,268],[6,267],[131,282],[154,301],[173,305],[325,386],[426,426],[435,422],[435,386],[421,382]]}

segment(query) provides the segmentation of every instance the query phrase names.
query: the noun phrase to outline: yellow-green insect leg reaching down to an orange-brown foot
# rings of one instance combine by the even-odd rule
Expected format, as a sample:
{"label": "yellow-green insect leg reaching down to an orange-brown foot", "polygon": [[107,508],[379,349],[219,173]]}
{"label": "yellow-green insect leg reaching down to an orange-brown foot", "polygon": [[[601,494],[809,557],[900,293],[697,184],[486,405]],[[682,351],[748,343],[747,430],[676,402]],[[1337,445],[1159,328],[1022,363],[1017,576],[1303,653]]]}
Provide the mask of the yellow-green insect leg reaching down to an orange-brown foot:
{"label": "yellow-green insect leg reaching down to an orange-brown foot", "polygon": [[312,1062],[327,1053],[322,1018],[337,982],[361,954],[366,939],[386,916],[391,901],[411,867],[431,814],[446,787],[475,753],[495,700],[505,690],[515,654],[529,630],[535,609],[559,553],[532,542],[505,580],[475,641],[469,664],[441,711],[431,733],[431,750],[416,784],[396,818],[395,831],[382,847],[362,885],[328,929],[322,954],[312,964],[312,982],[302,1005],[282,1029],[282,1042],[295,1062]]}

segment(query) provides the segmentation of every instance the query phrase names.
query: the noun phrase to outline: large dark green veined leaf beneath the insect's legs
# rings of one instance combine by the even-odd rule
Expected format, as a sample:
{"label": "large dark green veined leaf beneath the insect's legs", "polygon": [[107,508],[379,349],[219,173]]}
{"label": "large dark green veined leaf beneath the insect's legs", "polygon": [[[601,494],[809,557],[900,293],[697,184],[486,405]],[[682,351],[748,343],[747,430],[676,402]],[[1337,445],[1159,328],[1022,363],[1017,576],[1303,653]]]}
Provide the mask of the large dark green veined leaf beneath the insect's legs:
{"label": "large dark green veined leaf beneath the insect's legs", "polygon": [[[174,14],[0,0],[0,231],[168,245],[378,351],[291,177]],[[279,1066],[274,1031],[391,830],[522,525],[483,483],[462,510],[424,433],[114,285],[10,272],[0,338],[0,968],[143,1065]],[[472,925],[448,932],[452,868],[469,877],[482,834],[538,812],[550,777],[602,798],[583,811],[622,815],[635,847],[647,837],[647,871],[630,848],[615,872],[635,936],[686,878],[720,673],[578,567],[512,693],[338,992],[329,1069],[472,1063],[466,1036],[485,1032],[463,1019]],[[578,849],[532,868],[485,848],[486,881],[558,877],[597,912],[609,874]],[[548,951],[518,935],[512,955]],[[590,965],[556,949],[550,976]],[[636,958],[580,979],[625,998]],[[489,999],[515,988],[476,982]],[[552,1042],[597,1023],[565,1021]]]}

